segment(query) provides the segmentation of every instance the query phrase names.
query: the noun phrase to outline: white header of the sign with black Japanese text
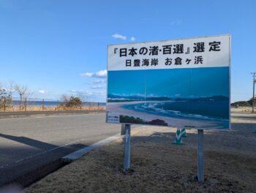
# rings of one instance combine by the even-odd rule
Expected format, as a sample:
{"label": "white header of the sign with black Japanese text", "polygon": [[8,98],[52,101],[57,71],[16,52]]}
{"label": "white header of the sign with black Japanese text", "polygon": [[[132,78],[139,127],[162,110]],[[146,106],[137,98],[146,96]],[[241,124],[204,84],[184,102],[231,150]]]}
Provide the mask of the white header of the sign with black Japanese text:
{"label": "white header of the sign with black Japanese text", "polygon": [[[228,39],[222,36],[110,45],[109,50],[113,54],[110,54],[112,58],[108,59],[115,66],[118,63],[118,69],[183,68],[198,65],[215,67],[228,64],[228,61],[222,61],[222,56],[229,48],[227,41]],[[215,61],[211,58],[215,58]],[[214,64],[216,61],[222,62]]]}

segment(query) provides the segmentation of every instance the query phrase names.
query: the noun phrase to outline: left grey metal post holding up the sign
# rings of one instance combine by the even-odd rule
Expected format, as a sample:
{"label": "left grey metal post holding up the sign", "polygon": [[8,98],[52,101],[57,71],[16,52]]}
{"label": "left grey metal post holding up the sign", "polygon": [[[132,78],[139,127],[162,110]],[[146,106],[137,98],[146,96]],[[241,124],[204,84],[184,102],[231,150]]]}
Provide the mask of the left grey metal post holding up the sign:
{"label": "left grey metal post holding up the sign", "polygon": [[124,174],[129,170],[131,162],[131,125],[125,124],[124,135]]}

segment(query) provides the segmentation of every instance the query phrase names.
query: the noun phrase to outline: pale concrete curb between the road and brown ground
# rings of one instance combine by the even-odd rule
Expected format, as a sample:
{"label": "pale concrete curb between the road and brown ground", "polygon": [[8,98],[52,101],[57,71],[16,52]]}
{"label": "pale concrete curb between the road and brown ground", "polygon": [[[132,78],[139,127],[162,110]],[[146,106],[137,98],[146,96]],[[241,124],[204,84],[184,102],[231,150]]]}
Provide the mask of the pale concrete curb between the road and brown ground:
{"label": "pale concrete curb between the road and brown ground", "polygon": [[114,140],[118,140],[119,138],[121,138],[122,136],[120,135],[120,133],[118,133],[117,135],[113,135],[112,137],[108,137],[105,140],[101,140],[97,143],[94,143],[86,148],[82,148],[78,151],[73,152],[72,154],[69,154],[67,156],[61,157],[61,161],[64,163],[70,163],[70,162],[74,162],[77,159],[80,159],[80,157],[82,157],[83,155],[89,153],[89,151],[95,149],[95,148],[100,148],[104,145],[107,145],[108,143],[113,142]]}

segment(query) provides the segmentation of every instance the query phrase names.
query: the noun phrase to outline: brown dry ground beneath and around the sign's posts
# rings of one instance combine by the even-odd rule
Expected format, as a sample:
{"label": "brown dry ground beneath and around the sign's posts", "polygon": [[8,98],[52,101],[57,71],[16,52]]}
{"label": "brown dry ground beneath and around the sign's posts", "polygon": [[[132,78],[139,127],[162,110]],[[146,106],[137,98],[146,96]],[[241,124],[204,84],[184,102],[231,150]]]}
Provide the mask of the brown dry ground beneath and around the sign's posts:
{"label": "brown dry ground beneath and around the sign's posts", "polygon": [[132,167],[122,174],[122,140],[91,151],[25,192],[256,192],[256,115],[234,113],[230,132],[205,132],[205,182],[198,183],[197,131],[173,145],[176,129],[132,132]]}

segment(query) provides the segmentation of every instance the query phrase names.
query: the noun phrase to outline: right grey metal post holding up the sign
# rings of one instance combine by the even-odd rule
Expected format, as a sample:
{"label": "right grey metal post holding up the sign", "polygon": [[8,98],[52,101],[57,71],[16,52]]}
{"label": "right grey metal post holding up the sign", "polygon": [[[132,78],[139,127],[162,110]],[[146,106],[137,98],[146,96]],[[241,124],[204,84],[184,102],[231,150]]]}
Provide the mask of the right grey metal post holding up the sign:
{"label": "right grey metal post holding up the sign", "polygon": [[203,129],[197,130],[197,179],[203,182]]}

